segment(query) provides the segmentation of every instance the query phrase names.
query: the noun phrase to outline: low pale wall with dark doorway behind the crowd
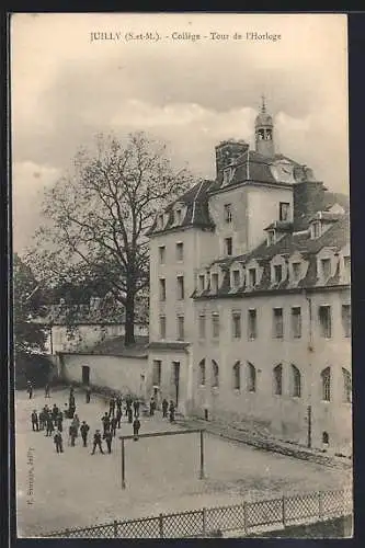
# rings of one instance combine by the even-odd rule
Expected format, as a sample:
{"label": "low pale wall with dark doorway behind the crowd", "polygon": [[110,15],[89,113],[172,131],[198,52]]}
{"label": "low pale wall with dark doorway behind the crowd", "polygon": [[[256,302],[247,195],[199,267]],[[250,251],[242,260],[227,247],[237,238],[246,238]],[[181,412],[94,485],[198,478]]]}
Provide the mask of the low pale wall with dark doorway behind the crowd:
{"label": "low pale wall with dark doorway behind the crowd", "polygon": [[67,383],[82,383],[82,367],[88,366],[90,367],[90,385],[145,398],[147,356],[62,353],[60,359],[61,377]]}

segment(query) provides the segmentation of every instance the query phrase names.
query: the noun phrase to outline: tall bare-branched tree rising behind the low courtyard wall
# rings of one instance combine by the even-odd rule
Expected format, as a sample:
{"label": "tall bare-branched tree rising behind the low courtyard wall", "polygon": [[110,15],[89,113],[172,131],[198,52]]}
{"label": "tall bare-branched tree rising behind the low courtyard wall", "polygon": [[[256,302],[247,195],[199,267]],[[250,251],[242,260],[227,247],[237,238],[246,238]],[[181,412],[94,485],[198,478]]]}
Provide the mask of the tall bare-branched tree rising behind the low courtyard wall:
{"label": "tall bare-branched tree rising behind the low courtyard wall", "polygon": [[36,232],[27,261],[43,279],[102,279],[125,307],[129,345],[136,296],[149,284],[146,231],[190,178],[173,170],[166,146],[142,133],[129,135],[126,145],[102,135],[95,144],[94,151],[77,153],[71,175],[46,191],[43,215],[49,222]]}

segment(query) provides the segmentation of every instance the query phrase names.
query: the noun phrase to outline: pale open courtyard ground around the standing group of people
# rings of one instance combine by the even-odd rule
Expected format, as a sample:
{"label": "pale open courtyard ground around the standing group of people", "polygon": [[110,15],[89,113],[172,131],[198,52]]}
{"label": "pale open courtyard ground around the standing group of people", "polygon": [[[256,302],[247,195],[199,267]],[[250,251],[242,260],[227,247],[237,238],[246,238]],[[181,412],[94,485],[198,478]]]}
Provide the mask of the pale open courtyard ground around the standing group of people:
{"label": "pale open courtyard ground around the standing group of people", "polygon": [[[350,472],[262,452],[205,434],[205,479],[198,479],[199,437],[187,434],[127,441],[122,490],[119,435],[130,435],[132,425],[123,418],[113,441],[112,454],[91,456],[95,429],[107,402],[92,396],[85,403],[76,391],[77,413],[90,425],[89,446],[68,446],[69,420],[64,421],[64,449],[58,455],[53,437],[33,432],[31,412],[45,403],[64,410],[68,390],[44,398],[36,390],[33,399],[15,393],[15,459],[18,535],[43,536],[71,527],[87,527],[113,520],[137,518],[164,512],[236,504],[244,500],[272,498],[349,487]],[[140,419],[140,434],[179,430],[160,412]],[[104,444],[104,450],[106,450]],[[30,491],[32,491],[31,494]]]}

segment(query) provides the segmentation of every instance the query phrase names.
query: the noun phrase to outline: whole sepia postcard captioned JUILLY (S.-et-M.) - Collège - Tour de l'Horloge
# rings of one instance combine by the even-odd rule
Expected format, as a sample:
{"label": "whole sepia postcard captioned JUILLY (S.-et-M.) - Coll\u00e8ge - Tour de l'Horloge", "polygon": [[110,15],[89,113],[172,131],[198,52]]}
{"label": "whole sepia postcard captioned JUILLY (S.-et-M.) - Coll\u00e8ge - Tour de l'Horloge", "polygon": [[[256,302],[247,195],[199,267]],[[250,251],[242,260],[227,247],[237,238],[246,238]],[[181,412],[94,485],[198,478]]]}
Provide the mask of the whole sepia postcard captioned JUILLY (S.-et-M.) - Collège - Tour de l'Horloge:
{"label": "whole sepia postcard captioned JUILLY (S.-et-M.) - Coll\u00e8ge - Tour de l'Horloge", "polygon": [[19,538],[352,538],[347,19],[10,22]]}

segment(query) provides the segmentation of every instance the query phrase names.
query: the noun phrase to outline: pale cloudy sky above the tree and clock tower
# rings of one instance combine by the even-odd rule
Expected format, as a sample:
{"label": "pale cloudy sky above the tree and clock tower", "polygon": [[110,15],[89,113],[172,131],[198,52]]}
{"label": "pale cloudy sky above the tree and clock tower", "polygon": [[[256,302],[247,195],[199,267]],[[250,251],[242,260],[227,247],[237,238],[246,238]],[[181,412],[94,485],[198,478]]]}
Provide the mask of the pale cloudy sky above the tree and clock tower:
{"label": "pale cloudy sky above the tree and clock tower", "polygon": [[[136,38],[146,32],[159,39]],[[281,37],[246,39],[251,32]],[[214,178],[215,145],[253,146],[262,94],[276,151],[349,193],[346,33],[342,14],[14,14],[14,250],[32,244],[44,189],[100,132],[144,130],[168,144],[174,165]]]}

